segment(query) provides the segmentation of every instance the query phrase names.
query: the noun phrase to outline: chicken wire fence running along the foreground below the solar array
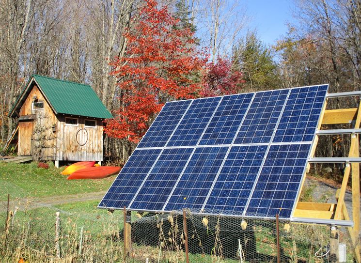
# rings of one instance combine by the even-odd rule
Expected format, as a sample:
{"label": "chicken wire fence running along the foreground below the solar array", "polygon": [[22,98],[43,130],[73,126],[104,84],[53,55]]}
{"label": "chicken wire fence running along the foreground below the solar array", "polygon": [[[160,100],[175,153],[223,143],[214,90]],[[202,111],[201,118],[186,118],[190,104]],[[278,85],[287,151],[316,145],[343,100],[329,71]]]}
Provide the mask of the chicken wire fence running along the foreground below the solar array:
{"label": "chicken wire fence running along the foreground below the solar array", "polygon": [[[2,204],[2,206],[5,206]],[[330,226],[182,213],[126,213],[38,207],[29,203],[6,212],[0,207],[0,262],[333,262]],[[59,212],[57,217],[56,212]],[[245,223],[247,226],[245,226]],[[185,222],[187,224],[187,240]],[[289,229],[288,229],[289,225]],[[340,242],[350,241],[340,229]],[[126,236],[126,242],[124,237]],[[127,240],[129,239],[129,240]],[[186,253],[186,243],[188,253]]]}

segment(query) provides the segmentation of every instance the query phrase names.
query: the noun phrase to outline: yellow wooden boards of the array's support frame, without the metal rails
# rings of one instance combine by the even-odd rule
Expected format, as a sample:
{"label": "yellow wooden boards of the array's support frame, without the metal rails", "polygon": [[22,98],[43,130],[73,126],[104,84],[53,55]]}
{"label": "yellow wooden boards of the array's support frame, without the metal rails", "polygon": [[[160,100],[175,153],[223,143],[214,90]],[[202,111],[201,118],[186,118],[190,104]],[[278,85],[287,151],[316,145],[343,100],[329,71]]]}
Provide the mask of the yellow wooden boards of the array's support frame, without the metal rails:
{"label": "yellow wooden boards of the array's support frame, without the metal rails", "polygon": [[[342,94],[342,93],[340,93]],[[321,122],[318,125],[320,130],[322,124],[350,124],[354,123],[354,129],[360,128],[361,122],[361,103],[359,108],[344,108],[344,109],[330,109],[326,110],[326,103],[321,111]],[[314,140],[311,149],[310,157],[314,157],[317,147],[318,135]],[[351,144],[348,157],[359,157],[359,134],[351,134]],[[307,164],[306,175],[310,170],[310,164]],[[301,202],[297,201],[296,209],[293,217],[316,218],[316,219],[334,219],[334,220],[350,220],[345,206],[345,192],[349,176],[351,174],[352,182],[352,215],[354,226],[347,227],[351,237],[353,252],[357,263],[361,263],[361,238],[360,238],[360,164],[346,163],[344,170],[344,177],[341,188],[336,192],[337,203],[316,203],[316,202]],[[304,176],[306,178],[306,176]],[[303,187],[301,185],[301,189]],[[336,227],[331,227],[331,249],[332,239],[337,239],[338,249],[338,230]],[[336,252],[337,253],[337,252]],[[338,257],[337,257],[338,260]]]}

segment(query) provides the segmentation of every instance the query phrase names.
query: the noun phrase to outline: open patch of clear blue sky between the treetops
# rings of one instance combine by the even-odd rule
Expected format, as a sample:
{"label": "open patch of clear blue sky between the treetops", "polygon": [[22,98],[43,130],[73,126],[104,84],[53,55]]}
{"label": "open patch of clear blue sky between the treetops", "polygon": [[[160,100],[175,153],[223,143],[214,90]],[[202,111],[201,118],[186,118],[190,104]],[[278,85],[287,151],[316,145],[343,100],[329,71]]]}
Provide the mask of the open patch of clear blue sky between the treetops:
{"label": "open patch of clear blue sky between the treetops", "polygon": [[264,44],[275,45],[287,32],[287,22],[295,24],[292,17],[294,0],[244,0],[249,16],[248,27],[257,29],[258,37]]}

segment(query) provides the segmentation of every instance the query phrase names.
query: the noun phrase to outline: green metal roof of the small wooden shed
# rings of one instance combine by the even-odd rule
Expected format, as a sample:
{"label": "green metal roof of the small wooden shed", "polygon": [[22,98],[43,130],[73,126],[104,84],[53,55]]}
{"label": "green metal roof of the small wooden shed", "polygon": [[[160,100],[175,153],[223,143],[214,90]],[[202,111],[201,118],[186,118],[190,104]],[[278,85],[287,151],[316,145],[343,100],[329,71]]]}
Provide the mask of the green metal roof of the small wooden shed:
{"label": "green metal roof of the small wooden shed", "polygon": [[[56,114],[101,119],[112,118],[112,115],[90,85],[39,75],[32,75],[29,81],[32,78]],[[9,116],[13,115],[16,108],[21,107],[22,103],[19,102],[25,100],[27,94],[31,91],[32,85],[29,84],[31,83],[28,82],[25,86]]]}

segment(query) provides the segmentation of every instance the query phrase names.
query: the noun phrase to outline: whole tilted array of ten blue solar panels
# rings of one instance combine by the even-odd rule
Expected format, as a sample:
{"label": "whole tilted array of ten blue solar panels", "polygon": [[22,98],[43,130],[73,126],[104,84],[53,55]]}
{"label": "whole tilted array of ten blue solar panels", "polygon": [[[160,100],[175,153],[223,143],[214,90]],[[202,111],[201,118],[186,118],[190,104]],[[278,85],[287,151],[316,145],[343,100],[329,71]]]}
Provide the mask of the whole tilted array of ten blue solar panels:
{"label": "whole tilted array of ten blue solar panels", "polygon": [[99,207],[292,217],[327,90],[166,103]]}

